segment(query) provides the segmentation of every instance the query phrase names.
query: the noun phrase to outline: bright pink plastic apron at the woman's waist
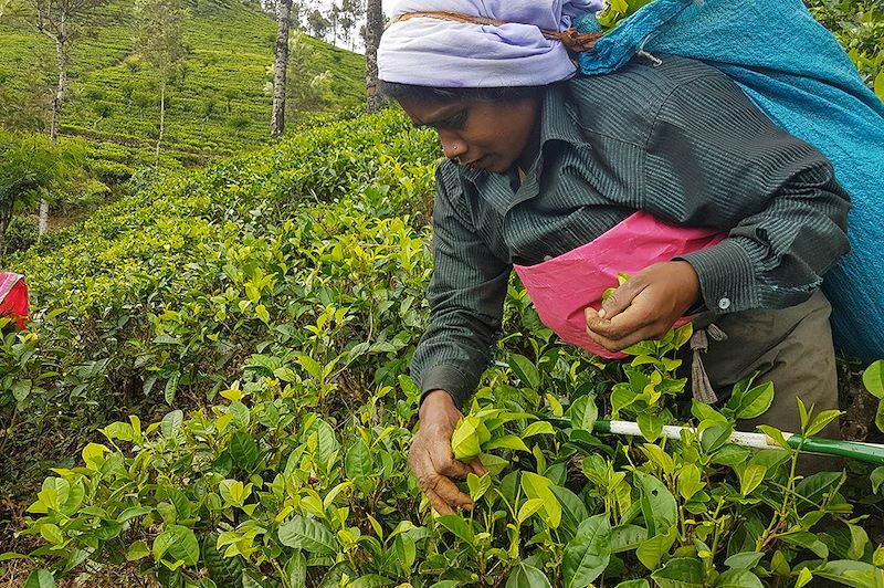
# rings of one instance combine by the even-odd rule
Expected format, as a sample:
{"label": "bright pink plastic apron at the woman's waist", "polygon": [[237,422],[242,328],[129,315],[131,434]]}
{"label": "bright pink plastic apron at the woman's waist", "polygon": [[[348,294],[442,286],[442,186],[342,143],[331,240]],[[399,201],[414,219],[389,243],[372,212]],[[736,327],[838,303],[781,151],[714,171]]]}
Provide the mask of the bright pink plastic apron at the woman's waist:
{"label": "bright pink plastic apron at the woman's waist", "polygon": [[[625,355],[609,351],[589,338],[585,308],[601,307],[602,294],[617,287],[619,273],[639,273],[724,238],[714,229],[678,227],[639,211],[583,246],[537,265],[515,265],[515,270],[546,326],[572,345],[619,359]],[[682,317],[675,325],[691,318]]]}

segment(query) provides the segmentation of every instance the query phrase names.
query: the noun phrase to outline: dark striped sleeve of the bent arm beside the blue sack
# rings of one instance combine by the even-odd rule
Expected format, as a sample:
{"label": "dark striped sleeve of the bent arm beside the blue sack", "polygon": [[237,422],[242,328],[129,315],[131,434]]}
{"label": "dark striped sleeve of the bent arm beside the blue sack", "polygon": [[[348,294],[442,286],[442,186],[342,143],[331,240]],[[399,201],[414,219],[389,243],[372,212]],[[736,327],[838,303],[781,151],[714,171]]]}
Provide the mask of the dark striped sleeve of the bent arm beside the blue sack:
{"label": "dark striped sleeve of the bent arm beside the blue sack", "polygon": [[727,232],[678,258],[718,314],[799,304],[849,250],[850,198],[829,160],[774,125],[724,74],[680,85],[663,102],[643,200],[663,219]]}

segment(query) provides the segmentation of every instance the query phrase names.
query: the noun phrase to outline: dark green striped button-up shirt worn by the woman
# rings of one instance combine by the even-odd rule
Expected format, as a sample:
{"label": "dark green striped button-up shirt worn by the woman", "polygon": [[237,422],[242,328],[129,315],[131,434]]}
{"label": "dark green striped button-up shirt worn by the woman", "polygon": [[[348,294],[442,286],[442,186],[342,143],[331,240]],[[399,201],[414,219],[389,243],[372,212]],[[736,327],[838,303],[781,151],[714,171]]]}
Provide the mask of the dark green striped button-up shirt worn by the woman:
{"label": "dark green striped button-up shirt worn by the woman", "polygon": [[696,61],[636,57],[552,85],[541,148],[519,181],[444,161],[436,172],[430,327],[412,363],[459,406],[490,365],[513,263],[581,246],[636,210],[727,232],[684,255],[715,313],[807,300],[848,251],[848,195],[829,161]]}

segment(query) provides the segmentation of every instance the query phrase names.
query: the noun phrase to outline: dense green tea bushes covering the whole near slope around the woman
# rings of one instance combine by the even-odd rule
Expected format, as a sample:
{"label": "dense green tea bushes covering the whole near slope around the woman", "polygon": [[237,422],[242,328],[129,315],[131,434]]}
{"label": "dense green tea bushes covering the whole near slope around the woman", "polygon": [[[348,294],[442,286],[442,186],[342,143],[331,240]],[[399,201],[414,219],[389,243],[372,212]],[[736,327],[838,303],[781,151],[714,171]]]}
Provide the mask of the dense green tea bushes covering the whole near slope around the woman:
{"label": "dense green tea bushes covering the whole near slope around the woman", "polygon": [[[732,443],[771,385],[692,401],[690,324],[604,361],[515,277],[452,439],[488,472],[472,511],[433,513],[408,366],[439,156],[398,111],[337,120],[13,255],[33,314],[0,318],[0,586],[884,586],[884,465],[804,472],[774,428]],[[862,381],[884,429],[884,360]],[[802,447],[839,418],[796,409]]]}

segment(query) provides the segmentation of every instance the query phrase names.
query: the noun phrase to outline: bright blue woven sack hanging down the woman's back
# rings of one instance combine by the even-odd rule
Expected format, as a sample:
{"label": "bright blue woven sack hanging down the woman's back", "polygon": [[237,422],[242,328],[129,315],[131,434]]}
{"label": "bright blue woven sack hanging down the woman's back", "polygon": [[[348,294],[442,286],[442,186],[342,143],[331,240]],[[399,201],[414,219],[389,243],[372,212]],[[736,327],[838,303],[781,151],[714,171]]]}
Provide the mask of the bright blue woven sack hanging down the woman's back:
{"label": "bright blue woven sack hanging down the woman's back", "polygon": [[[578,23],[599,30],[594,17]],[[884,104],[801,0],[655,0],[581,54],[586,75],[636,53],[704,61],[730,76],[777,125],[810,143],[851,195],[851,252],[825,274],[835,346],[884,357]]]}

